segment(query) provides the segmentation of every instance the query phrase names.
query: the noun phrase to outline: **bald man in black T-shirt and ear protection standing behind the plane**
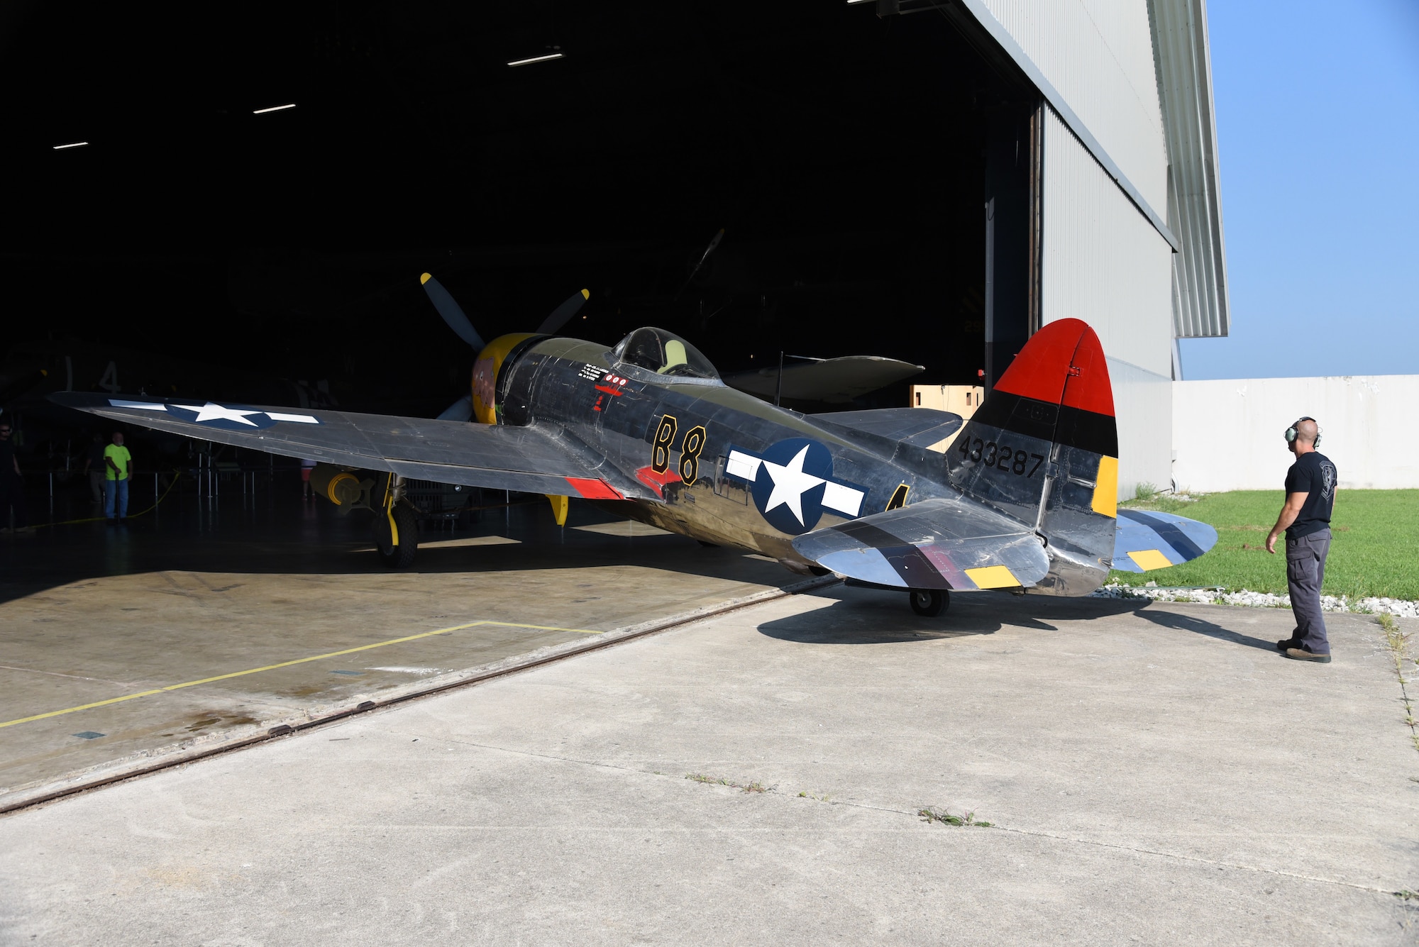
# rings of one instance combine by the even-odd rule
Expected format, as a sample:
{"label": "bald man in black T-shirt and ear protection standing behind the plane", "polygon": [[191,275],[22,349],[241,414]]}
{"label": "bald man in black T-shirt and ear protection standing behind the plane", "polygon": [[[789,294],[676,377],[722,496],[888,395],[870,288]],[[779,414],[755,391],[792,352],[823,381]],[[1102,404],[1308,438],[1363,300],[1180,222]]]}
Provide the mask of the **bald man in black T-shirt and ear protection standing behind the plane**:
{"label": "bald man in black T-shirt and ear protection standing behind the plane", "polygon": [[1266,537],[1266,551],[1276,553],[1276,537],[1286,530],[1286,584],[1291,591],[1296,631],[1276,646],[1296,661],[1330,662],[1330,641],[1321,615],[1321,583],[1330,553],[1330,516],[1335,506],[1335,465],[1315,449],[1321,431],[1315,418],[1301,418],[1286,428],[1287,449],[1296,464],[1286,472],[1286,505]]}

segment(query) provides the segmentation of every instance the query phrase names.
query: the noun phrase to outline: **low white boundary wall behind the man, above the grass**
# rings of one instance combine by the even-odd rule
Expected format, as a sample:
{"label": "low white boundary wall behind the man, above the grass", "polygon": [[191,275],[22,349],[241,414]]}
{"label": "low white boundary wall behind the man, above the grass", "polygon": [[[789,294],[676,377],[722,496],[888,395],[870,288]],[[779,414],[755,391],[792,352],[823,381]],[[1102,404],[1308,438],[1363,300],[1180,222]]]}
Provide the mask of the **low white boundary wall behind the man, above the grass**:
{"label": "low white boundary wall behind the man, above the grass", "polygon": [[1419,374],[1174,381],[1174,479],[1205,493],[1280,493],[1294,459],[1283,434],[1308,414],[1342,489],[1415,489],[1416,407]]}

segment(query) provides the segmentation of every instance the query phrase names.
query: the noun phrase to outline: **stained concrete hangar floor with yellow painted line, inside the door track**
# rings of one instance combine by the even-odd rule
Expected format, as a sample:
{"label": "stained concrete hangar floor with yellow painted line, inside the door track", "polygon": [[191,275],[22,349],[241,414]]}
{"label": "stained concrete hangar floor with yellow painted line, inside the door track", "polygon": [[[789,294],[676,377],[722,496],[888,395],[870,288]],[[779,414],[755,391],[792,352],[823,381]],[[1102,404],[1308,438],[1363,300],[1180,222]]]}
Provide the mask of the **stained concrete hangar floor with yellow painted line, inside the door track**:
{"label": "stained concrete hangar floor with yellow painted line, inside the door track", "polygon": [[639,523],[568,533],[433,540],[420,550],[433,568],[394,574],[342,571],[369,567],[359,546],[319,550],[304,573],[214,571],[194,556],[190,571],[135,568],[3,601],[0,812],[802,581]]}

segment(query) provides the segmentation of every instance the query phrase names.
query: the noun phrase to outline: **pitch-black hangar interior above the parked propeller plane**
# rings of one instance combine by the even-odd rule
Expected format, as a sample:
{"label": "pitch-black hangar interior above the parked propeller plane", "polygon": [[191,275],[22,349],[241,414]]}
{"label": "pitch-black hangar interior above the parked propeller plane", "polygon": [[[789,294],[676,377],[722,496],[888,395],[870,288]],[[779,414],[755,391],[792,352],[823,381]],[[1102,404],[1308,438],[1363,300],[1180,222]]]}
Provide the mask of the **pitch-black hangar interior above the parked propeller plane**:
{"label": "pitch-black hangar interior above the parked propeller plane", "polygon": [[[877,13],[20,3],[7,380],[54,342],[143,353],[122,391],[240,394],[186,360],[434,414],[473,357],[430,271],[484,337],[586,286],[568,335],[658,325],[721,371],[881,354],[976,383],[990,198],[998,364],[1027,335],[1037,96],[949,6]],[[79,362],[96,387],[105,360]]]}

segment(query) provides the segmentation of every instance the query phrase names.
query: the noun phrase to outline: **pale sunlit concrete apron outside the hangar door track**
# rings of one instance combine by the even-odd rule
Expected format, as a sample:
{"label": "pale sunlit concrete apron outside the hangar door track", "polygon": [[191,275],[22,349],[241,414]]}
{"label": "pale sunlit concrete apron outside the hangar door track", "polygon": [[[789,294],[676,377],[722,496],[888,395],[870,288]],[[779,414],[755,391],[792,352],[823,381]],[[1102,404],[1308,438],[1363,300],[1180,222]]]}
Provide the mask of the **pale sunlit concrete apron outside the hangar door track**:
{"label": "pale sunlit concrete apron outside the hangar door track", "polygon": [[6,817],[3,930],[1412,943],[1419,756],[1328,621],[1308,665],[1287,611],[779,598]]}

